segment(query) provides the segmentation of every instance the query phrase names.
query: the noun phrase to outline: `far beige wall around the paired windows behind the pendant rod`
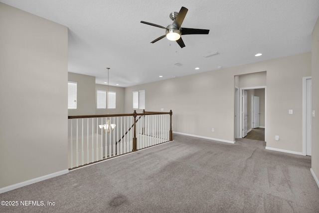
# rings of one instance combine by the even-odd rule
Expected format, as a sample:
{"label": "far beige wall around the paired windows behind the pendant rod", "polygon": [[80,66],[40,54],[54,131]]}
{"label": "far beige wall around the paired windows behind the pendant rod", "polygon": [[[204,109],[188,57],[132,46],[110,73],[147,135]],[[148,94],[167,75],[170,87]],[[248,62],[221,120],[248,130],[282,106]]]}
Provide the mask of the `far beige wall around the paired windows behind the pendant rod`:
{"label": "far beige wall around the paired windows behind the pendant rod", "polygon": [[[96,84],[95,85],[96,90],[108,90],[107,85],[102,84]],[[96,108],[96,100],[95,100],[95,112],[96,115],[106,115],[106,114],[123,114],[124,113],[124,91],[125,88],[123,87],[116,87],[116,86],[110,86],[109,87],[110,92],[116,92],[116,109],[97,109]],[[96,91],[95,91],[96,94]]]}

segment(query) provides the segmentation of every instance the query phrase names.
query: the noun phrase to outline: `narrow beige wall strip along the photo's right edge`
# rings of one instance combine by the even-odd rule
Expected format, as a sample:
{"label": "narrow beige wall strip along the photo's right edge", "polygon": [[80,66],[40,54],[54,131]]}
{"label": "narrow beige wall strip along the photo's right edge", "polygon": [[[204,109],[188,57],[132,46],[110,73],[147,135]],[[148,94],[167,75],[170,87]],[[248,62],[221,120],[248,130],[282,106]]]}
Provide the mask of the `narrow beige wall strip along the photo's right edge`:
{"label": "narrow beige wall strip along the photo's right edge", "polygon": [[315,116],[312,119],[312,170],[317,177],[319,186],[319,18],[312,34],[312,109]]}

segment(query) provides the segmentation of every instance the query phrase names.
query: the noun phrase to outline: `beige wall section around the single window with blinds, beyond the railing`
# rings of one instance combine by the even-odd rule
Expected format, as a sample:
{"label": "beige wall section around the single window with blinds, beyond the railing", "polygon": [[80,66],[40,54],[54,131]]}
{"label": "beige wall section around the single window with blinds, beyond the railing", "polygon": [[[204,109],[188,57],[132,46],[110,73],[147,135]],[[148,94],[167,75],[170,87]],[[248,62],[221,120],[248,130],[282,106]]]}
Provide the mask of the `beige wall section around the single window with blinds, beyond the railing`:
{"label": "beige wall section around the single window with blinds, beyond the railing", "polygon": [[68,72],[68,80],[77,82],[77,108],[68,115],[95,115],[95,77]]}

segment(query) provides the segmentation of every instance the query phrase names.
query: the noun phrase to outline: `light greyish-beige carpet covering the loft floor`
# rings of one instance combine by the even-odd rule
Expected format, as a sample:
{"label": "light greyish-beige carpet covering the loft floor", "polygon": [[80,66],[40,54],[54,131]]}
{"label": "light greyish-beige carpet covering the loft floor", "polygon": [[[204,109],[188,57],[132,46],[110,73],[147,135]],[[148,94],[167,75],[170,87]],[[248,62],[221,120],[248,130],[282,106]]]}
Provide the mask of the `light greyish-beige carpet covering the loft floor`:
{"label": "light greyish-beige carpet covering the loft floor", "polygon": [[0,207],[0,212],[318,213],[311,157],[182,135],[69,174],[0,194],[0,201],[55,206]]}

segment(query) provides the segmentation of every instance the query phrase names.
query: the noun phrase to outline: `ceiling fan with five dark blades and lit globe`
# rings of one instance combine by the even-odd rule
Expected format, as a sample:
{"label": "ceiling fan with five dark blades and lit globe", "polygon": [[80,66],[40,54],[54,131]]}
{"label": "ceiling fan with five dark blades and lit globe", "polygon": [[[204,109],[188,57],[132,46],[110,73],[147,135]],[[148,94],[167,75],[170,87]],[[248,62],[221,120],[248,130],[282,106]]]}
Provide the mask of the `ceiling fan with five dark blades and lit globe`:
{"label": "ceiling fan with five dark blades and lit globe", "polygon": [[171,12],[169,14],[170,19],[172,19],[173,23],[169,24],[166,27],[160,26],[155,23],[150,23],[146,21],[141,21],[141,23],[149,24],[152,26],[157,26],[163,29],[166,29],[165,35],[162,35],[155,39],[154,41],[151,41],[151,43],[155,43],[158,40],[162,39],[163,37],[166,37],[168,40],[176,41],[181,48],[185,46],[183,40],[181,39],[181,35],[189,35],[189,34],[208,34],[209,29],[194,29],[194,28],[184,28],[181,27],[181,24],[185,18],[185,15],[187,13],[188,9],[186,7],[181,7],[179,12]]}

